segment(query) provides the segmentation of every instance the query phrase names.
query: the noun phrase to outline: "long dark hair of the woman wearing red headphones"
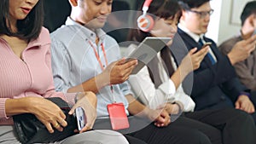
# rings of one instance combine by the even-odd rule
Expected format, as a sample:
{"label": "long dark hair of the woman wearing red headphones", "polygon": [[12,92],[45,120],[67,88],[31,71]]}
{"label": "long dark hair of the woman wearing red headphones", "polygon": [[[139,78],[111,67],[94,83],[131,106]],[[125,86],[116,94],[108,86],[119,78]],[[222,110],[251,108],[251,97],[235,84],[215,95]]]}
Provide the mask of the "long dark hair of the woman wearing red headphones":
{"label": "long dark hair of the woman wearing red headphones", "polygon": [[[142,9],[142,8],[141,8]],[[177,3],[177,0],[153,0],[149,5],[148,14],[153,14],[162,19],[178,19],[181,16],[181,8]],[[145,37],[152,36],[150,32],[143,32],[139,29],[133,29],[130,31],[128,40],[142,42]],[[166,46],[160,51],[161,58],[165,61],[168,74],[171,77],[174,72],[171,61],[171,50]],[[148,68],[150,78],[154,82],[153,72]]]}

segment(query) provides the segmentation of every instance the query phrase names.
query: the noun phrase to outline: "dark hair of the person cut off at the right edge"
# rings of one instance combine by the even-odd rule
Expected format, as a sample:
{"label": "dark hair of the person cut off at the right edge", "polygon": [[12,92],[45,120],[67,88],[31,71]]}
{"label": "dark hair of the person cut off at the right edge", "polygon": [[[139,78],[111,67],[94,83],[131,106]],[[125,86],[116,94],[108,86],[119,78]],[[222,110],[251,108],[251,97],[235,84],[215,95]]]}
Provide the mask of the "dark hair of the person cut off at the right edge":
{"label": "dark hair of the person cut off at the right edge", "polygon": [[241,26],[243,26],[244,21],[247,20],[247,17],[251,14],[256,14],[256,1],[248,2],[244,7],[240,16]]}

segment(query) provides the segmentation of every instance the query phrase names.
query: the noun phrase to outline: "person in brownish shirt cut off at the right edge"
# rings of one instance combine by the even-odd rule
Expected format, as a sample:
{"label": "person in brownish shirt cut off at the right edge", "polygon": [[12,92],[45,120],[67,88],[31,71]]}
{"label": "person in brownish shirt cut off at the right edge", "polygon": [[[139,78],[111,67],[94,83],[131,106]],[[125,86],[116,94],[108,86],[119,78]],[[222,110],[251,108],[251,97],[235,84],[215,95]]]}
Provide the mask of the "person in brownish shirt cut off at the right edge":
{"label": "person in brownish shirt cut off at the right edge", "polygon": [[[218,49],[226,55],[230,52],[232,46],[237,42],[252,37],[256,33],[256,1],[251,1],[244,7],[241,16],[241,30],[235,37],[231,37],[220,44]],[[238,78],[248,89],[256,90],[256,51],[253,50],[246,60],[236,63],[235,69]]]}

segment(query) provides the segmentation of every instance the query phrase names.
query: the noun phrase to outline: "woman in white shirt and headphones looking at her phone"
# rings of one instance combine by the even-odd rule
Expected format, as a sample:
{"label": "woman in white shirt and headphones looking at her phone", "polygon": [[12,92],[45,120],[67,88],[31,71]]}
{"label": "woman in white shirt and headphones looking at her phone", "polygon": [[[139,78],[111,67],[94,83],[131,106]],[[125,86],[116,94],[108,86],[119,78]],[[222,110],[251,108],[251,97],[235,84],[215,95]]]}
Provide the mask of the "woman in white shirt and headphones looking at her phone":
{"label": "woman in white shirt and headphones looking at her phone", "polygon": [[[180,9],[171,2],[172,0],[153,1],[148,8],[148,13],[156,17],[153,28],[148,32],[131,30],[130,40],[139,43],[145,37],[172,37],[177,40],[178,36],[174,35],[177,32]],[[184,93],[181,83],[190,72],[199,68],[201,60],[207,55],[208,46],[191,49],[177,66],[175,58],[180,55],[172,55],[172,52],[174,54],[174,51],[181,49],[179,47],[182,44],[173,47],[175,49],[169,49],[170,45],[172,41],[137,75],[130,77],[131,88],[138,98],[148,107],[165,107],[171,119],[183,110],[182,116],[172,124],[180,124],[185,130],[198,131],[212,143],[255,143],[253,119],[246,112],[235,109],[193,112],[195,102]],[[131,45],[130,49],[137,49],[137,46]]]}

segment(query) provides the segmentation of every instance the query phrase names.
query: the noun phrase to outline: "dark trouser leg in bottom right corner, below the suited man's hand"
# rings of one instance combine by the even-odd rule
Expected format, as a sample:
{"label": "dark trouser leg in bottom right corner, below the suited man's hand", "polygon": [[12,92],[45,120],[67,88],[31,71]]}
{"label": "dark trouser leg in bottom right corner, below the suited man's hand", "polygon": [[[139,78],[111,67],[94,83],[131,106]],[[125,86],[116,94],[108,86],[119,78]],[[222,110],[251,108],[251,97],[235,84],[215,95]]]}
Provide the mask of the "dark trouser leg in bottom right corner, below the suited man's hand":
{"label": "dark trouser leg in bottom right corner, below the suited man's hand", "polygon": [[224,144],[255,144],[253,118],[234,108],[185,113],[187,118],[210,124],[222,131]]}

